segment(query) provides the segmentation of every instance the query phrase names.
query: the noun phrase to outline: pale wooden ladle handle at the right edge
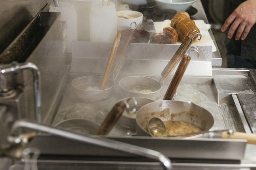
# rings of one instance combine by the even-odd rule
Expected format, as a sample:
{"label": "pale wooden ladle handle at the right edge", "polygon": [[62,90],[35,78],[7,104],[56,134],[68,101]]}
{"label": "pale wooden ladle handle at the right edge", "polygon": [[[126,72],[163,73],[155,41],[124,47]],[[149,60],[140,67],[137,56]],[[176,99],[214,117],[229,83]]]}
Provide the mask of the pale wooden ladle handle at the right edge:
{"label": "pale wooden ladle handle at the right edge", "polygon": [[256,144],[256,134],[234,132],[229,135],[228,132],[222,132],[223,139],[246,139],[250,144]]}

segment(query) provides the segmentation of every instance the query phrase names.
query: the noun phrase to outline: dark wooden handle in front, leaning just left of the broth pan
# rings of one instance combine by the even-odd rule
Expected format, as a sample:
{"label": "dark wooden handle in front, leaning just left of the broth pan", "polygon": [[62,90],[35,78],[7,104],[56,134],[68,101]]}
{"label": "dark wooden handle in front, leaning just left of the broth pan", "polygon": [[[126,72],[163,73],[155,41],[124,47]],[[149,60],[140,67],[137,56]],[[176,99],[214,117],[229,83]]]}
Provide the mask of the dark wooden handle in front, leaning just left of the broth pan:
{"label": "dark wooden handle in front, leaning just left of the broth pan", "polygon": [[108,135],[111,129],[115,126],[117,120],[121,117],[124,110],[126,109],[126,104],[124,101],[120,101],[114,105],[108,116],[103,121],[102,125],[96,132],[96,135]]}

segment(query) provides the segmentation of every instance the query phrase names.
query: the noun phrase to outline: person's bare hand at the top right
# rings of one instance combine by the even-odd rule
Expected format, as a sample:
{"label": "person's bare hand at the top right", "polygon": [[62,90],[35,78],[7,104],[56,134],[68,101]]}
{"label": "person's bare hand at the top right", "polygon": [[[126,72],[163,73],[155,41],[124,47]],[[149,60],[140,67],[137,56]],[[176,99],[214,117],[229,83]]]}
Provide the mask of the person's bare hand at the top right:
{"label": "person's bare hand at the top right", "polygon": [[240,4],[226,19],[221,27],[221,31],[226,31],[230,24],[232,24],[228,31],[228,38],[231,39],[237,29],[235,39],[239,40],[241,38],[241,40],[244,40],[255,23],[256,0],[247,0]]}

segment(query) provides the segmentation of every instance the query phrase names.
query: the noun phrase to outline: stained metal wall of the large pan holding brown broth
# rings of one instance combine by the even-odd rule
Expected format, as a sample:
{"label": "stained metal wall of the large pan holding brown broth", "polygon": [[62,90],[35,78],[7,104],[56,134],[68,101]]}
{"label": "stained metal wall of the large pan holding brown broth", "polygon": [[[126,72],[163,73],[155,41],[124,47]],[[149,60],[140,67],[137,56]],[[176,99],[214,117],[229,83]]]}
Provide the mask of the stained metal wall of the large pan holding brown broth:
{"label": "stained metal wall of the large pan holding brown broth", "polygon": [[[169,111],[162,112],[165,109]],[[150,136],[146,130],[148,120],[152,117],[158,117],[166,120],[183,120],[191,123],[201,130],[210,130],[214,124],[213,116],[203,107],[191,102],[181,102],[173,100],[161,100],[142,106],[136,115],[136,133],[140,136]],[[202,136],[194,135],[185,138],[195,138]]]}

